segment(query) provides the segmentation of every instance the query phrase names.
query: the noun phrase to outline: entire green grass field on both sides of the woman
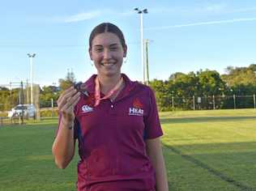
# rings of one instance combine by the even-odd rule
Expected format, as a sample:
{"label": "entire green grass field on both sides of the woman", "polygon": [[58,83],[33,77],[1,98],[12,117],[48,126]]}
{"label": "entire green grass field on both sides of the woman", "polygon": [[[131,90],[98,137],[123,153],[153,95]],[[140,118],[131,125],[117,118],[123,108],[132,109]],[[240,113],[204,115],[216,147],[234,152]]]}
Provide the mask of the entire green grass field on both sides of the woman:
{"label": "entire green grass field on both sides of the woman", "polygon": [[[256,190],[254,109],[162,112],[169,190]],[[56,120],[0,126],[0,190],[75,190],[51,155]]]}

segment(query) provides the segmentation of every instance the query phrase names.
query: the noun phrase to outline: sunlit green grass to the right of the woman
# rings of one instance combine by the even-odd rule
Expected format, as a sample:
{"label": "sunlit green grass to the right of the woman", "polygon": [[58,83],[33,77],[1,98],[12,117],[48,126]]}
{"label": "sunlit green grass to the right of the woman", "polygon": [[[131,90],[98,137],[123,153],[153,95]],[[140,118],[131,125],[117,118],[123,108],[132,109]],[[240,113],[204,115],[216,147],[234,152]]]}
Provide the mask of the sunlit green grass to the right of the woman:
{"label": "sunlit green grass to the right of the woman", "polygon": [[256,190],[255,110],[160,117],[170,190]]}

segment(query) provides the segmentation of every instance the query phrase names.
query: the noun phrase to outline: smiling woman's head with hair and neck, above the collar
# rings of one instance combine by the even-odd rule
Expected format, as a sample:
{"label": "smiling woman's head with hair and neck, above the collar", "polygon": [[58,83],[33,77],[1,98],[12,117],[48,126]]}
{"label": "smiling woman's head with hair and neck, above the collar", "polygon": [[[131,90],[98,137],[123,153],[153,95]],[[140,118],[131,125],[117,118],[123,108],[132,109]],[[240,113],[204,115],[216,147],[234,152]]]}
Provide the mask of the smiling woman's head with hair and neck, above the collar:
{"label": "smiling woman's head with hair and neck, above the collar", "polygon": [[112,24],[101,24],[94,28],[89,38],[89,53],[99,78],[109,76],[120,79],[126,52],[126,41],[119,28]]}

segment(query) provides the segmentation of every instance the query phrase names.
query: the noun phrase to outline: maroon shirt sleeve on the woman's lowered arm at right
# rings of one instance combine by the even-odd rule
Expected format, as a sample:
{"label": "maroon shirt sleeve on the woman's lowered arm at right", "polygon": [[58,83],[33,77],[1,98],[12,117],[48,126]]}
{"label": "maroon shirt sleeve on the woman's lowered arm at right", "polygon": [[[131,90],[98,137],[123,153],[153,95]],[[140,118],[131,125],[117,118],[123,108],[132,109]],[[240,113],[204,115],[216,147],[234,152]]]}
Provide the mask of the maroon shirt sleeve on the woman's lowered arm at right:
{"label": "maroon shirt sleeve on the woman's lowered arm at right", "polygon": [[156,106],[156,97],[154,92],[148,87],[149,104],[147,116],[144,117],[145,134],[144,138],[158,138],[163,135],[163,130],[160,125],[160,119]]}

